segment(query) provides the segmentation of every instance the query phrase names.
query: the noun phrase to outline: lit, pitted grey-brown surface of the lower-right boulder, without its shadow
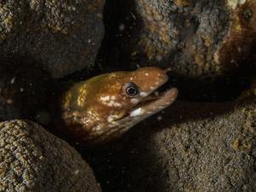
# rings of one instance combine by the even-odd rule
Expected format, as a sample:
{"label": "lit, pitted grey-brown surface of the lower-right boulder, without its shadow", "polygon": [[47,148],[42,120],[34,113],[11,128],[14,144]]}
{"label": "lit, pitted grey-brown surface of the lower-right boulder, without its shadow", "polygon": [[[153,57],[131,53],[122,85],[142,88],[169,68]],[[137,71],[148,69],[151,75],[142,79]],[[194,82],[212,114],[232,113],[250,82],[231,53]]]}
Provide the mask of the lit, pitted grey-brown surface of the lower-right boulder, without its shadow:
{"label": "lit, pitted grey-brown surface of the lower-right boulder, without its shadow", "polygon": [[155,163],[151,169],[131,172],[138,178],[150,175],[155,183],[148,179],[133,191],[255,191],[255,107],[256,102],[250,103],[231,113],[189,120],[157,132],[148,147],[138,152],[141,158],[136,166]]}

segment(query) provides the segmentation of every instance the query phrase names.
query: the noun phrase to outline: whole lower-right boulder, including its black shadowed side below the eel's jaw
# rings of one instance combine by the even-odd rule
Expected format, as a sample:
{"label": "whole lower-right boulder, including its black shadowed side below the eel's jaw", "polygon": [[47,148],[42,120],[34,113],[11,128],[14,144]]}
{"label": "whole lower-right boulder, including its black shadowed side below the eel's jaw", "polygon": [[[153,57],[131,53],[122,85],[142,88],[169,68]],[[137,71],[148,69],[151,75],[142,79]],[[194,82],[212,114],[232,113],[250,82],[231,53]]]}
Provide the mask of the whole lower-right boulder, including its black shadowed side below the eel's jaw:
{"label": "whole lower-right boulder, including its black shadowed side below the eel's jaw", "polygon": [[104,148],[104,154],[94,151],[90,161],[96,175],[104,176],[99,177],[104,191],[253,192],[255,125],[255,97],[176,102]]}

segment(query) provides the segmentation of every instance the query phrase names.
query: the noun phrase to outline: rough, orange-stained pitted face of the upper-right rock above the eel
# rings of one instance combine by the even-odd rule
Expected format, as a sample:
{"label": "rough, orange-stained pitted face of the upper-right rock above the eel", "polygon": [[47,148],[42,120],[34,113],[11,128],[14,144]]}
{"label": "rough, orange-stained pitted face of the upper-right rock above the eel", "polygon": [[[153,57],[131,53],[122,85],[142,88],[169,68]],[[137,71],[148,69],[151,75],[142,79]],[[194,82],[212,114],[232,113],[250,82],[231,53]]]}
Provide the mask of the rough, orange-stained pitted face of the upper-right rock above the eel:
{"label": "rough, orange-stained pitted face of the upper-right rock above the eel", "polygon": [[120,18],[116,30],[108,24],[111,16],[106,22],[107,34],[115,33],[113,39],[117,41],[113,53],[108,53],[112,62],[116,58],[124,67],[124,61],[129,61],[130,67],[172,67],[175,73],[193,77],[223,75],[237,68],[248,70],[252,65],[256,44],[254,0],[115,2],[122,9],[112,10]]}

